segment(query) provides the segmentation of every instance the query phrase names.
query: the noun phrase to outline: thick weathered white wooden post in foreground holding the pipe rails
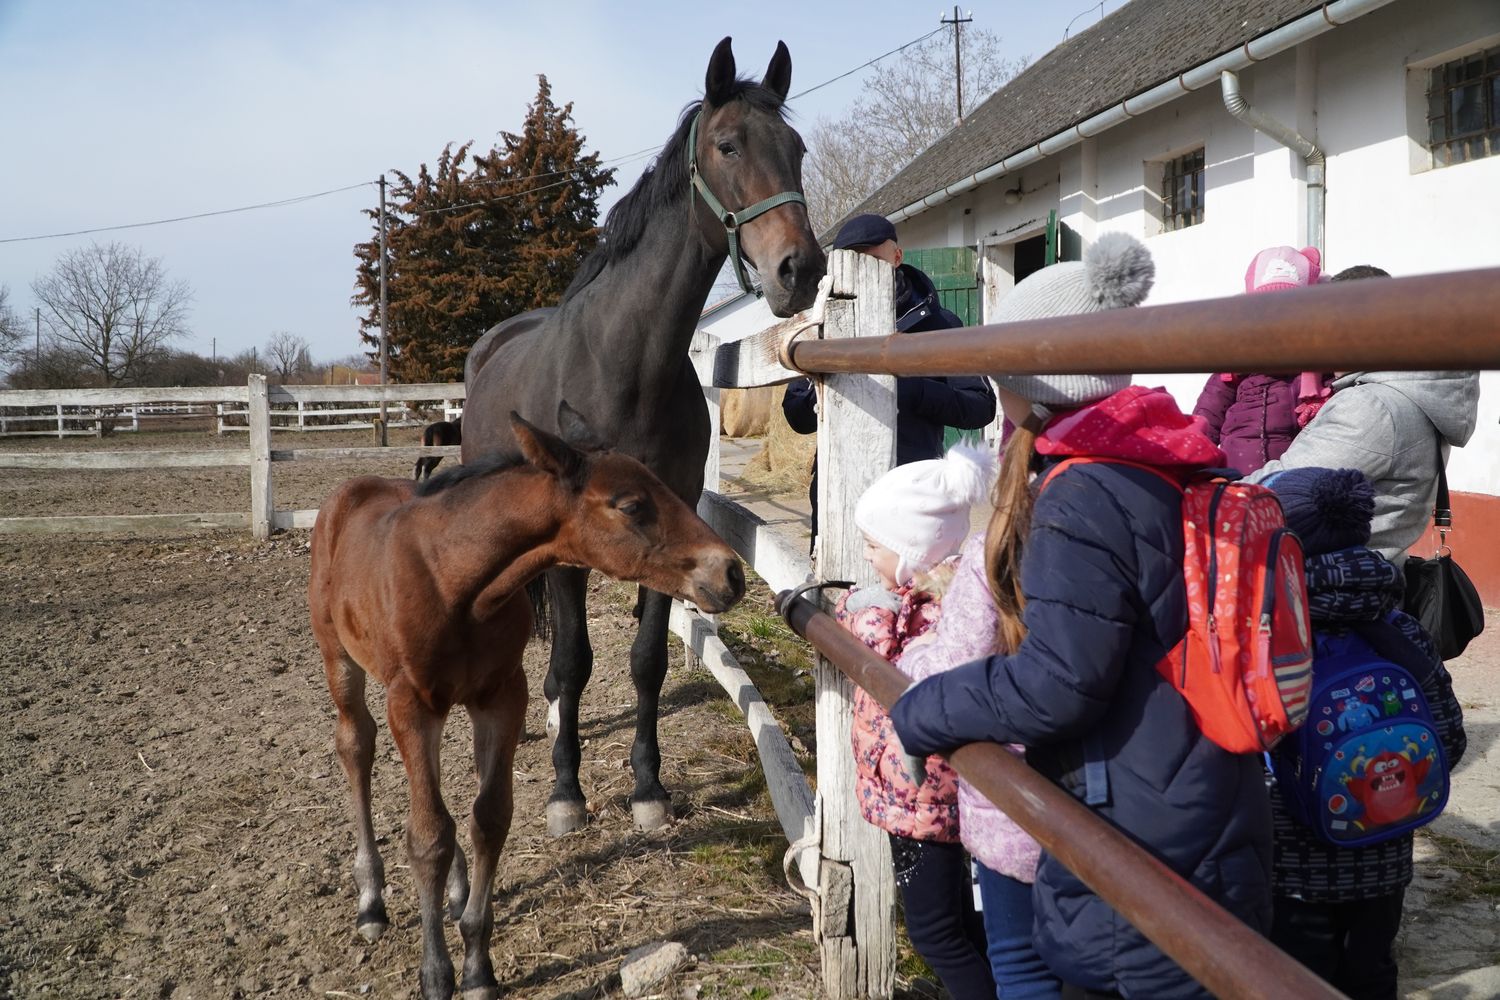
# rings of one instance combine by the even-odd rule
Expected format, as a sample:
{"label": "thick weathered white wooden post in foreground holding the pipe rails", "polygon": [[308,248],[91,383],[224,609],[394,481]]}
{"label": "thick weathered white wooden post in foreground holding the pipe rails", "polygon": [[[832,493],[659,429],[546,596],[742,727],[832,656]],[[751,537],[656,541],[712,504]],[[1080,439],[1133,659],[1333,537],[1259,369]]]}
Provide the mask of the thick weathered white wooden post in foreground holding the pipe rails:
{"label": "thick weathered white wooden post in foreground holding the pipe rails", "polygon": [[[885,336],[894,313],[890,265],[852,250],[828,258],[832,297],[824,337]],[[830,375],[818,406],[818,579],[879,586],[854,525],[855,501],[896,463],[896,379]],[[822,823],[824,990],[834,1000],[890,997],[896,987],[896,880],[882,831],[860,814],[849,736],[854,685],[818,661],[818,813]]]}

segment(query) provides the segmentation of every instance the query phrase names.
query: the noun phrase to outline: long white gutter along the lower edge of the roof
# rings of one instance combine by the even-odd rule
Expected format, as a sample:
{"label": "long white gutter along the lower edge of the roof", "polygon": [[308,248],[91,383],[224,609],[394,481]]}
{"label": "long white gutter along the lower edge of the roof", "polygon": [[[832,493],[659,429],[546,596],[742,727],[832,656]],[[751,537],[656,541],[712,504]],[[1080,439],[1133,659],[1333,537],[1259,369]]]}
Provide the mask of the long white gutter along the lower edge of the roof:
{"label": "long white gutter along the lower edge of the roof", "polygon": [[[1006,156],[1000,162],[992,163],[976,174],[969,174],[968,177],[956,180],[946,187],[940,187],[920,201],[914,201],[909,205],[888,213],[886,217],[891,222],[910,219],[912,216],[934,205],[952,201],[954,198],[968,193],[980,184],[994,180],[996,177],[1011,174],[1023,166],[1028,166],[1029,163],[1035,163],[1040,159],[1060,153],[1070,145],[1076,145],[1083,139],[1112,129],[1122,121],[1128,121],[1130,118],[1170,103],[1182,94],[1220,82],[1220,73],[1224,70],[1238,72],[1246,66],[1264,61],[1272,55],[1278,55],[1311,37],[1317,37],[1340,24],[1348,24],[1354,18],[1364,16],[1371,10],[1378,10],[1394,1],[1395,0],[1335,0],[1334,3],[1324,3],[1317,10],[1305,13],[1296,21],[1282,24],[1280,28],[1268,31],[1260,37],[1252,37],[1239,48],[1230,49],[1222,55],[1216,55],[1206,63],[1200,63],[1184,73],[1178,73],[1172,79],[1156,84],[1144,93],[1126,97],[1113,108],[1107,108],[1106,111],[1101,111],[1090,118],[1084,118],[1083,121],[1070,126],[1056,135],[1047,136],[1041,142]],[[1308,238],[1311,240],[1311,237],[1312,234],[1310,232]],[[1322,241],[1322,229],[1318,232],[1318,241]]]}

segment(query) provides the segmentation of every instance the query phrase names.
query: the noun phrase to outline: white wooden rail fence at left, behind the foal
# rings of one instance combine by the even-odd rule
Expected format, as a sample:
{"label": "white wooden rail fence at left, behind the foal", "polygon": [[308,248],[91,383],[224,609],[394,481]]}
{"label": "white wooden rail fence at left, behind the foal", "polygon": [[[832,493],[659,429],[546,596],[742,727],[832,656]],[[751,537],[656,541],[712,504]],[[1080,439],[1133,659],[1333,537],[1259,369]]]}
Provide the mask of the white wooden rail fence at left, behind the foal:
{"label": "white wooden rail fence at left, behind the foal", "polygon": [[[250,375],[240,387],[168,388],[72,388],[0,391],[0,408],[69,406],[98,412],[118,406],[192,405],[231,406],[243,411],[249,430],[246,448],[202,448],[195,451],[28,451],[0,453],[0,469],[164,469],[206,466],[248,466],[249,507],[242,511],[184,514],[93,514],[72,517],[0,517],[0,534],[52,534],[81,531],[160,531],[172,528],[249,528],[256,538],[268,538],[285,528],[312,528],[315,510],[276,510],[272,466],[276,462],[336,462],[346,459],[388,459],[418,456],[458,456],[458,447],[369,447],[369,448],[272,448],[273,415],[348,412],[308,409],[309,405],[416,403],[435,402],[452,414],[453,400],[464,399],[464,385],[422,382],[412,385],[268,385],[264,375]],[[360,412],[380,412],[378,406]],[[350,424],[370,427],[370,423]],[[296,427],[276,426],[278,430]]]}

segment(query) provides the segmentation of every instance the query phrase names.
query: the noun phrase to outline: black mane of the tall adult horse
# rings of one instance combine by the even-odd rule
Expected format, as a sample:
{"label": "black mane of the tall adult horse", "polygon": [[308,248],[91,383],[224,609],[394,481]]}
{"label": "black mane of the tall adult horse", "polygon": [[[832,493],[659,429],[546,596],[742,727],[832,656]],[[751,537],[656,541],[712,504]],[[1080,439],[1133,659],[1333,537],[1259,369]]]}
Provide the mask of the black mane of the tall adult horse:
{"label": "black mane of the tall adult horse", "polygon": [[[770,111],[782,115],[782,118],[786,117],[786,105],[782,97],[776,91],[762,87],[756,79],[736,79],[724,103],[735,99],[746,100],[758,111]],[[598,234],[598,247],[584,259],[578,274],[573,277],[573,283],[562,292],[562,301],[567,301],[588,286],[608,264],[614,264],[630,253],[646,231],[651,216],[669,207],[687,187],[687,133],[693,126],[693,117],[698,115],[702,105],[702,100],[693,100],[682,108],[672,138],[666,141],[657,157],[640,174],[636,186],[609,210],[609,214],[604,217],[603,232]]]}

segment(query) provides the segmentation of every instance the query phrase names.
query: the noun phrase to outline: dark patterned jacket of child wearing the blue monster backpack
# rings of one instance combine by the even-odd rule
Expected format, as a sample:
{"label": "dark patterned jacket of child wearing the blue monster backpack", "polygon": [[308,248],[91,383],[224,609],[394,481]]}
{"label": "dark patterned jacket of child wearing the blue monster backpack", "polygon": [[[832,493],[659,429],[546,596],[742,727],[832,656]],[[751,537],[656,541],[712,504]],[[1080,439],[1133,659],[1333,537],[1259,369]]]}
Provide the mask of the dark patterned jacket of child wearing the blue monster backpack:
{"label": "dark patterned jacket of child wearing the blue monster backpack", "polygon": [[[1370,549],[1342,549],[1308,556],[1306,579],[1312,627],[1320,633],[1354,628],[1372,648],[1408,667],[1432,712],[1448,768],[1458,766],[1468,745],[1464,709],[1431,636],[1410,615],[1392,610],[1404,592],[1401,570]],[[1314,682],[1317,669],[1314,663]],[[1293,766],[1298,742],[1286,739],[1272,751],[1278,766]],[[1392,895],[1412,882],[1412,834],[1365,847],[1340,847],[1298,822],[1275,783],[1270,802],[1275,895],[1305,903],[1354,903]]]}

